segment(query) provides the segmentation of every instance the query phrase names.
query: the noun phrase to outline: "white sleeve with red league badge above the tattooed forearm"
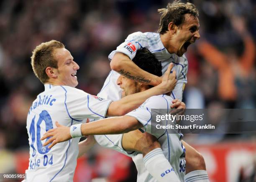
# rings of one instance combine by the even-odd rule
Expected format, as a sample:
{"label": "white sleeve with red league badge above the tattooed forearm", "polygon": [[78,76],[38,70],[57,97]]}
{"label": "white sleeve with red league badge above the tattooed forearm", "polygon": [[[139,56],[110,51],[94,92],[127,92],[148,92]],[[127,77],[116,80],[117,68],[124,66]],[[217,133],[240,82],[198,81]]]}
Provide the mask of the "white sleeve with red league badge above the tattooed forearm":
{"label": "white sleeve with red league badge above the tattooed forearm", "polygon": [[112,60],[116,52],[122,52],[132,60],[135,57],[137,50],[145,47],[146,43],[147,37],[142,32],[130,34],[125,39],[125,42],[120,44],[116,50],[110,53],[108,59]]}

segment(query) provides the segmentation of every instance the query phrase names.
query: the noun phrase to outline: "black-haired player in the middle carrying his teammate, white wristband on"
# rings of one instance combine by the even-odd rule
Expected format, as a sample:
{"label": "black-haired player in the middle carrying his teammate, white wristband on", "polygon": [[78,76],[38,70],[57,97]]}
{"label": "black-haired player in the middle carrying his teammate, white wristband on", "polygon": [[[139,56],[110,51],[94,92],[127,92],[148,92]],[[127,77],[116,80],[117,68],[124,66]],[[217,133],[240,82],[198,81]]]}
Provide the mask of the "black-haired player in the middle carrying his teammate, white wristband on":
{"label": "black-haired player in the middle carrying his teammate, white wristband on", "polygon": [[[136,54],[136,57],[134,57],[133,61],[136,63],[136,65],[138,65],[138,67],[140,67],[143,70],[146,70],[147,72],[150,72],[151,74],[158,76],[162,75],[161,63],[158,60],[156,60],[154,55],[149,50],[145,48],[143,48],[142,50],[138,50],[138,53]],[[134,93],[143,92],[152,87],[150,85],[142,84],[140,82],[128,79],[123,76],[118,77],[117,85],[119,85],[120,88],[124,90],[123,97],[126,97]],[[150,97],[138,109],[126,114],[123,117],[108,118],[105,120],[82,125],[81,134],[87,135],[89,134],[89,130],[90,133],[94,134],[122,133],[124,131],[127,132],[131,130],[136,130],[138,128],[141,128],[141,130],[144,132],[146,131],[148,133],[151,133],[151,109],[170,110],[171,108],[169,106],[172,104],[172,100],[173,98],[168,95],[158,95]],[[184,103],[182,104],[184,105]],[[57,124],[57,126],[59,125]],[[50,138],[44,145],[47,145],[48,143],[54,140],[56,142],[62,142],[64,140],[70,139],[70,137],[73,136],[73,127],[79,128],[79,126],[77,125],[72,125],[71,130],[69,129],[69,127],[59,127],[54,130],[49,130],[48,133],[46,133],[46,135],[43,137],[43,139],[49,136],[53,137]],[[143,161],[146,165],[146,168],[151,172],[152,175],[154,175],[154,177],[159,182],[183,182],[185,172],[185,152],[181,142],[182,135],[168,134],[166,133],[166,130],[162,130],[161,132],[159,131],[159,134],[153,135],[158,139],[160,145],[156,146],[154,150],[144,155]],[[112,145],[108,145],[109,140],[117,141],[116,137],[118,137],[119,141],[115,143],[115,147],[113,147]],[[129,144],[125,143],[128,140],[122,140],[123,137],[125,137],[125,134],[107,135],[105,137],[105,140],[109,148],[115,149],[118,152],[122,152],[127,155],[125,151],[127,150],[127,148],[125,147],[129,146]],[[138,138],[141,137],[141,135],[138,134],[133,137]],[[96,135],[95,139],[97,140]],[[53,145],[54,142],[49,147],[52,147]],[[139,141],[137,142],[137,144],[134,145],[141,145],[140,147],[144,146],[142,141]],[[138,147],[129,147],[128,150],[134,150],[137,148]],[[161,149],[163,150],[163,153],[161,152]],[[79,147],[79,155],[81,155],[81,153],[83,152],[84,151],[81,151],[81,148]],[[135,156],[136,155],[137,154],[135,154]],[[166,158],[168,160],[166,160]],[[142,172],[141,169],[141,167],[138,168],[138,174]],[[153,177],[149,175],[148,172],[145,174],[141,176],[140,179],[138,179],[138,181],[146,182],[148,180],[153,180]]]}

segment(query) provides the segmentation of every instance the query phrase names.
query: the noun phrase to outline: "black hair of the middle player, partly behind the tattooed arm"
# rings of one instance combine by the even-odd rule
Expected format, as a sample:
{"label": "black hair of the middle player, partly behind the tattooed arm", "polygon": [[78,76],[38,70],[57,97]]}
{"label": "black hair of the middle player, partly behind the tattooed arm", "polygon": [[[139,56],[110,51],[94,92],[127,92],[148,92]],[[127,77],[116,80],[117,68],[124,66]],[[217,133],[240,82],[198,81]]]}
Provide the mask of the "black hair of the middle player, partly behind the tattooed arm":
{"label": "black hair of the middle player, partly behind the tattooed arm", "polygon": [[137,50],[133,62],[142,70],[153,75],[162,76],[162,65],[156,57],[146,48]]}

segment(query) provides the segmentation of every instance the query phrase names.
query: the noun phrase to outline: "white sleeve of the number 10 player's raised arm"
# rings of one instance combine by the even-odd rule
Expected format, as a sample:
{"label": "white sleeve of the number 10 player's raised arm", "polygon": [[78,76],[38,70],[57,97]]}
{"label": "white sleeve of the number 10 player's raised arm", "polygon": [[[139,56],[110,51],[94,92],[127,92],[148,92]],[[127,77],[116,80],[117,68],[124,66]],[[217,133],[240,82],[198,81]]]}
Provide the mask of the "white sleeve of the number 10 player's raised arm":
{"label": "white sleeve of the number 10 player's raised arm", "polygon": [[75,120],[105,117],[112,100],[90,95],[79,89],[67,89],[65,106],[70,117]]}

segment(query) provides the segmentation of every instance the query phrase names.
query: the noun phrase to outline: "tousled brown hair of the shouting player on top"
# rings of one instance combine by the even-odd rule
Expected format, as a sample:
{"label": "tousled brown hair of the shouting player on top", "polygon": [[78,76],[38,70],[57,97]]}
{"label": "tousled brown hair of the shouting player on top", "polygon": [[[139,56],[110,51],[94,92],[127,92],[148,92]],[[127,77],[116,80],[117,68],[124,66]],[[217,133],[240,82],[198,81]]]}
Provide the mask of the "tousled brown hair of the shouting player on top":
{"label": "tousled brown hair of the shouting player on top", "polygon": [[185,20],[184,15],[190,14],[195,18],[198,18],[199,12],[195,5],[190,2],[183,3],[180,0],[175,0],[172,3],[168,3],[167,8],[161,8],[158,10],[159,13],[162,13],[158,33],[164,34],[168,31],[168,25],[170,22],[174,22],[174,25],[182,25]]}

